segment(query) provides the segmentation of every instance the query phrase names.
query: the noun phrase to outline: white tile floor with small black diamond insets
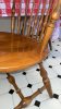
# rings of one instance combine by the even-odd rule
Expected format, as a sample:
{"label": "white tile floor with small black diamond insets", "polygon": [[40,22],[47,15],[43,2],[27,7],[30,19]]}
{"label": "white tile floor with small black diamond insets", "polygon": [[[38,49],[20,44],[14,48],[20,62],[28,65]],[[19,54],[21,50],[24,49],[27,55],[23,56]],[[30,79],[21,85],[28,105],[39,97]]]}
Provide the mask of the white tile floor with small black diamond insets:
{"label": "white tile floor with small black diamond insets", "polygon": [[[25,109],[61,109],[61,40],[52,40],[52,51],[49,58],[42,61],[44,68],[50,78],[53,98],[51,99],[44,90]],[[17,86],[23,95],[29,96],[40,88],[42,78],[39,74],[39,66],[35,65],[25,71],[11,73],[15,77]],[[0,109],[13,109],[21,101],[14,87],[8,82],[5,74],[0,74]]]}

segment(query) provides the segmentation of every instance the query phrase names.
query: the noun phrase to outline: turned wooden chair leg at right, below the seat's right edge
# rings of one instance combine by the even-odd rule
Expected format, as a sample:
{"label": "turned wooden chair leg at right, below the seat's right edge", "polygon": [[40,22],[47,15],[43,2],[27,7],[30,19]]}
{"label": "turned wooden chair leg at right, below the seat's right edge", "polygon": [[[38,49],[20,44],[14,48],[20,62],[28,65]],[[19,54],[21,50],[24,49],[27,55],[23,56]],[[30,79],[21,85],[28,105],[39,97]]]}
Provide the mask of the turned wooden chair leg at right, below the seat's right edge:
{"label": "turned wooden chair leg at right, below the seat's right edge", "polygon": [[47,76],[47,72],[46,72],[46,70],[44,69],[42,63],[39,63],[39,66],[40,66],[40,75],[41,75],[41,77],[42,77],[42,82],[44,82],[44,84],[45,84],[45,86],[46,86],[46,88],[47,88],[47,92],[48,92],[50,98],[52,98],[53,95],[52,95],[52,90],[51,90],[50,81],[49,81],[49,78],[48,78],[48,76]]}

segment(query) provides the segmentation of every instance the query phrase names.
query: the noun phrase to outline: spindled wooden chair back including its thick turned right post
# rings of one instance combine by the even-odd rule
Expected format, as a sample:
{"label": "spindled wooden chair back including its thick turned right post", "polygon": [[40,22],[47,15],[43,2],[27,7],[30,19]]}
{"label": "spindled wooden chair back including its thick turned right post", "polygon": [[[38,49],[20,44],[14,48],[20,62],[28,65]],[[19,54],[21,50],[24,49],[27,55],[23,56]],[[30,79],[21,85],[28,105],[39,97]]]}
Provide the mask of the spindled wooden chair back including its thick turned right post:
{"label": "spindled wooden chair back including its thick turned right post", "polygon": [[[30,25],[32,25],[32,21],[33,21],[33,12],[34,12],[35,1],[36,0],[33,0],[33,7],[32,7],[32,12],[30,12],[30,16],[29,16],[29,23],[28,23],[29,25],[28,25],[27,35],[26,35],[27,38],[29,38]],[[41,0],[39,0],[37,13],[35,15],[34,27],[33,27],[32,37],[30,37],[32,39],[34,39],[34,33],[35,33],[36,24],[37,24],[37,17],[38,17],[38,12],[39,12],[40,3],[41,3]],[[51,14],[49,15],[49,11],[50,11],[51,3],[52,3],[52,0],[50,0],[49,8],[47,10],[47,14],[46,14],[46,17],[44,20],[44,13],[45,13],[46,3],[47,3],[47,0],[45,1],[42,13],[40,15],[39,23],[38,23],[38,28],[37,28],[36,37],[34,39],[34,41],[39,43],[39,45],[40,45],[40,47],[39,47],[40,52],[44,51],[44,49],[45,49],[45,47],[46,47],[46,45],[47,45],[47,43],[49,40],[49,37],[50,37],[51,33],[54,29],[54,23],[59,19],[61,0],[54,0],[53,9],[51,11]],[[22,0],[20,0],[20,12],[19,12],[19,17],[17,17],[17,34],[20,34],[20,29],[21,29],[20,28],[20,23],[21,23],[21,7],[22,7]],[[25,25],[26,25],[26,19],[27,19],[27,7],[28,7],[28,0],[27,0],[27,3],[26,3],[26,10],[25,10],[25,16],[24,16],[24,23],[23,23],[23,29],[22,29],[22,35],[23,36],[24,36],[24,31],[25,31]],[[14,23],[15,23],[15,15],[14,14],[15,14],[15,0],[13,0],[12,17],[11,17],[11,33],[12,34],[14,33]],[[48,15],[49,15],[49,19],[48,19]],[[42,23],[42,20],[44,20],[44,23]],[[41,26],[41,32],[39,34],[40,26]],[[37,40],[38,34],[39,34],[39,39]]]}

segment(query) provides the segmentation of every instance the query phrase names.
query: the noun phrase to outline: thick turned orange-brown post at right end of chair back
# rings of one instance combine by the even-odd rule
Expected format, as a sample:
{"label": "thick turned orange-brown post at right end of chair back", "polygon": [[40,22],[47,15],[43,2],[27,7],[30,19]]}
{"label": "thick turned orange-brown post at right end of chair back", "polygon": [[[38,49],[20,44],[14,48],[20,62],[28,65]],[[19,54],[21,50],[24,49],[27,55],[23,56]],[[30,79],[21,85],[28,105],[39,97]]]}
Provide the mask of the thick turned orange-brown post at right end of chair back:
{"label": "thick turned orange-brown post at right end of chair back", "polygon": [[40,52],[42,52],[45,50],[45,47],[49,40],[49,37],[51,36],[51,34],[54,29],[54,23],[59,19],[59,15],[60,15],[60,7],[61,7],[61,0],[58,1],[57,7],[51,14],[51,20],[46,26],[45,35],[44,35],[44,38],[42,38],[40,47],[39,47]]}

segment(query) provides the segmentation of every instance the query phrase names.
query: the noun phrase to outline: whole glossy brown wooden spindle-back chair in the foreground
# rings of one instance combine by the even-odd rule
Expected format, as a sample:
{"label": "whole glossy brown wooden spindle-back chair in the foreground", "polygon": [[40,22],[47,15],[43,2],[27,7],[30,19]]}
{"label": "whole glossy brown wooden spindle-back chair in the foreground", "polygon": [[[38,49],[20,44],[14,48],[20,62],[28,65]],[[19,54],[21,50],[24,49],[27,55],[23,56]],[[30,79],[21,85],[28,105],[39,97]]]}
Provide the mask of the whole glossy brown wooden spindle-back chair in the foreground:
{"label": "whole glossy brown wooden spindle-back chair in the foreground", "polygon": [[[41,0],[39,0],[39,4],[40,4],[40,2],[41,2]],[[46,0],[46,2],[47,2],[47,0]],[[37,34],[36,34],[35,38],[34,38],[34,32],[35,32],[36,23],[37,23],[39,5],[38,5],[37,14],[35,16],[32,37],[29,37],[29,29],[30,29],[30,23],[32,23],[32,17],[33,17],[35,0],[34,0],[33,8],[32,8],[29,25],[28,25],[28,31],[27,31],[26,36],[24,36],[24,29],[25,29],[25,25],[26,25],[27,7],[26,7],[26,11],[25,11],[22,34],[19,34],[20,33],[20,22],[21,22],[21,3],[20,3],[20,13],[19,13],[19,17],[17,17],[17,34],[14,34],[15,0],[13,0],[13,7],[12,7],[11,33],[0,32],[0,73],[4,73],[4,72],[7,73],[9,82],[14,86],[16,93],[22,98],[22,101],[14,109],[21,109],[21,108],[27,107],[30,104],[30,101],[38,94],[41,94],[41,92],[44,89],[47,89],[50,98],[53,97],[51,86],[50,86],[50,81],[47,76],[46,70],[42,66],[42,59],[45,59],[48,56],[48,49],[47,49],[46,45],[47,45],[49,37],[54,28],[54,23],[59,17],[61,0],[58,1],[57,7],[56,7],[56,1],[54,1],[53,10],[52,10],[49,21],[47,23],[49,10],[50,10],[51,2],[52,2],[52,0],[50,0],[47,15],[46,15],[45,22],[42,24],[41,33],[39,35],[39,39],[37,40],[39,27],[40,27],[40,25],[42,23],[42,19],[44,19],[46,2],[44,5],[42,14],[41,14],[41,17],[39,21],[39,25],[38,25],[38,29],[37,29]],[[27,0],[27,3],[28,3],[28,0]],[[42,36],[44,31],[45,31],[45,34]],[[12,75],[10,75],[10,73],[19,71],[19,70],[27,69],[35,64],[39,64],[39,66],[40,66],[40,75],[42,77],[44,86],[41,88],[39,88],[36,93],[34,93],[32,96],[24,97],[23,94],[21,93],[21,89],[15,84],[14,77]]]}

